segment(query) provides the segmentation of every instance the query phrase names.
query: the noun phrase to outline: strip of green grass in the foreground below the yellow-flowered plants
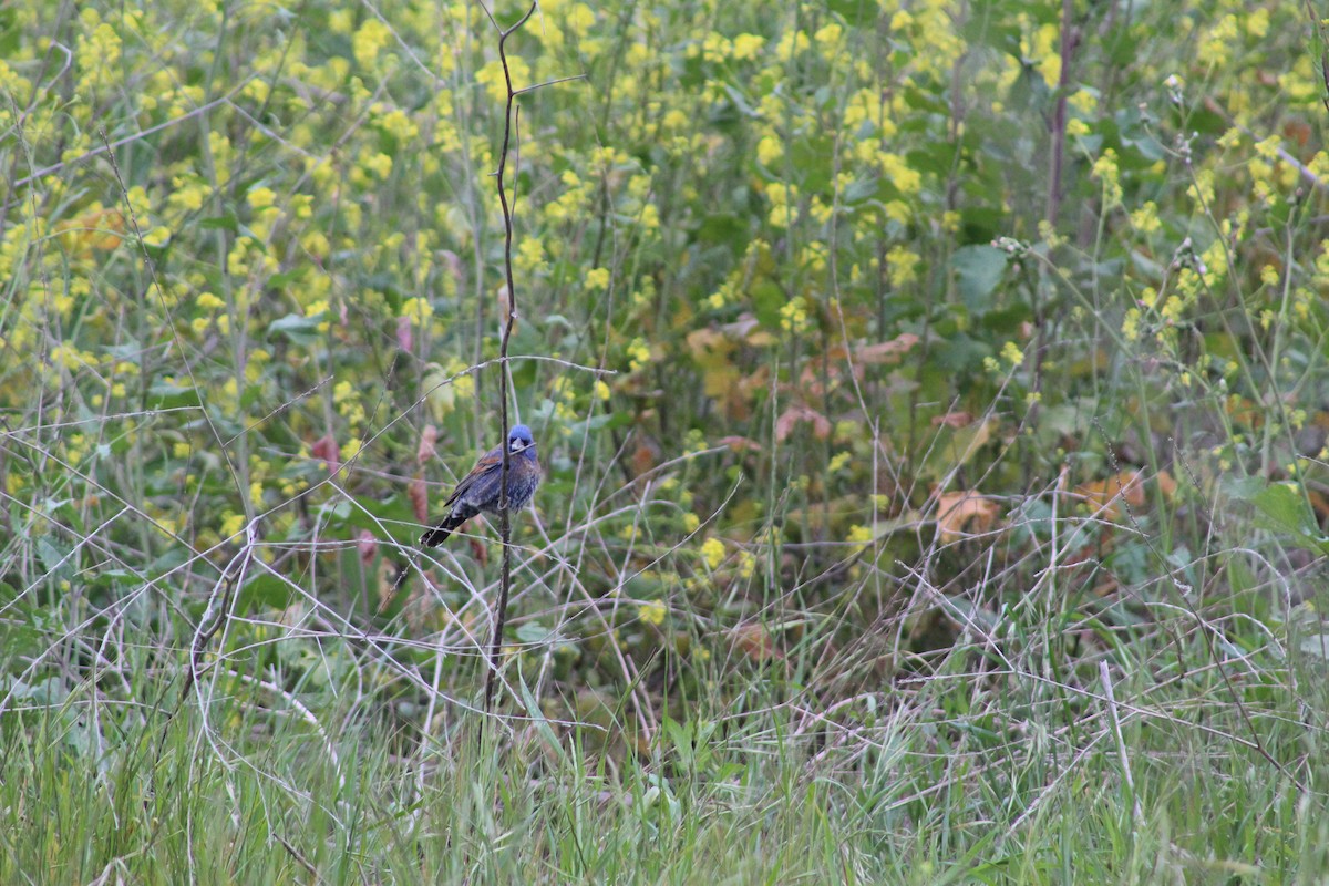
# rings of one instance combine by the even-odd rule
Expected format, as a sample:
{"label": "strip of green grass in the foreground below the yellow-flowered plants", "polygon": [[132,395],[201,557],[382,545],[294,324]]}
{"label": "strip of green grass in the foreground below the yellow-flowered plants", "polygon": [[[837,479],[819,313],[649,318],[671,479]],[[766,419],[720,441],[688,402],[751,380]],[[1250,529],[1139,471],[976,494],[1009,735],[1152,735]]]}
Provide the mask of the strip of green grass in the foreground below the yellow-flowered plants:
{"label": "strip of green grass in the foreground below the yellow-flowered plants", "polygon": [[548,721],[412,739],[311,695],[324,740],[225,681],[206,724],[70,697],[7,713],[0,877],[1317,882],[1322,673],[1240,680],[1249,723],[1215,675],[1174,676],[1118,675],[1119,731],[1096,684],[957,668],[876,716],[674,721],[622,758]]}

